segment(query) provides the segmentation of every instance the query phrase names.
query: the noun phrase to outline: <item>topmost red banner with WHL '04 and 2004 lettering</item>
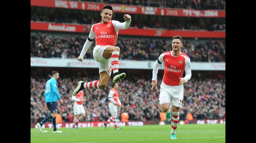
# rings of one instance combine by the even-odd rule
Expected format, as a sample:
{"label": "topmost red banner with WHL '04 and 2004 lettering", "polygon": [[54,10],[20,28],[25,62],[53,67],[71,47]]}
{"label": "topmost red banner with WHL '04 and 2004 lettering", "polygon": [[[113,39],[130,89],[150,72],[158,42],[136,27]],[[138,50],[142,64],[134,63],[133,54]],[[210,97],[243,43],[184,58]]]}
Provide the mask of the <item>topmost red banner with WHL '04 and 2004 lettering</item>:
{"label": "topmost red banner with WHL '04 and 2004 lettering", "polygon": [[[30,0],[31,6],[67,8],[89,11],[101,11],[106,4],[66,1],[66,0]],[[194,10],[194,9],[171,9],[157,8],[149,6],[133,6],[123,4],[111,4],[113,12],[120,13],[136,13],[162,16],[177,16],[177,17],[216,17],[225,18],[226,11],[221,10]]]}

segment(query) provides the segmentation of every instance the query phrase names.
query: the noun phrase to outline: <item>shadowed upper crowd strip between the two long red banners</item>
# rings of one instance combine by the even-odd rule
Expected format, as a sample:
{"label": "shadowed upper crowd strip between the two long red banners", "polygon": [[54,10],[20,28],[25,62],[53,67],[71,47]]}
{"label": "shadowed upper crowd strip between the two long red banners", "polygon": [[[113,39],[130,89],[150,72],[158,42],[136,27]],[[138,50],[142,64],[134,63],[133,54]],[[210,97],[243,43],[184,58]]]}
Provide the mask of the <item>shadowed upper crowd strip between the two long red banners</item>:
{"label": "shadowed upper crowd strip between the two long red banners", "polygon": [[[124,22],[123,14],[116,13],[115,17],[112,18],[113,20],[117,20],[120,22]],[[32,11],[31,14],[32,21],[48,21],[48,22],[55,22],[55,23],[74,23],[74,24],[96,24],[101,21],[101,19],[97,20],[91,16],[83,15],[80,11],[77,13],[71,12],[71,14],[67,15],[58,9],[56,9],[53,14],[49,16],[44,16],[39,13],[35,13]],[[137,27],[137,28],[164,28],[167,30],[170,29],[194,29],[194,30],[225,30],[226,24],[212,24],[212,25],[205,25],[199,26],[199,24],[193,24],[192,21],[186,21],[186,24],[180,24],[178,22],[178,18],[174,20],[174,22],[168,22],[166,24],[161,23],[159,21],[136,21],[132,20],[130,23],[130,27]]]}

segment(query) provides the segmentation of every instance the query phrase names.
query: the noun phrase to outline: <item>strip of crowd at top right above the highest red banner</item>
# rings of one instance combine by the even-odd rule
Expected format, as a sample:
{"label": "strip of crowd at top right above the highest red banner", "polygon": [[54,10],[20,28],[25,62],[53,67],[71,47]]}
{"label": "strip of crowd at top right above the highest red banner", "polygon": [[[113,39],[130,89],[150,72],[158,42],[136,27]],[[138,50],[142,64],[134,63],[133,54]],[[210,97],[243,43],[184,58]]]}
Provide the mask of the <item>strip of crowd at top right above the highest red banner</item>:
{"label": "strip of crowd at top right above the highest red banner", "polygon": [[226,9],[226,0],[78,0],[106,4],[129,4],[161,8]]}

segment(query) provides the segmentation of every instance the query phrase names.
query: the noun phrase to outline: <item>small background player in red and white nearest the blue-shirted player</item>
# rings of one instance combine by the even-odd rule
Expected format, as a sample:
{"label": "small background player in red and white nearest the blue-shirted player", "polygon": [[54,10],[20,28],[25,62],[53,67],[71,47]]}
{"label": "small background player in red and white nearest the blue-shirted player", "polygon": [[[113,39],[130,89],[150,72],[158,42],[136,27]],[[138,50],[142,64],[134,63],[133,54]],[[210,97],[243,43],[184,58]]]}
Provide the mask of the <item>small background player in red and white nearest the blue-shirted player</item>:
{"label": "small background player in red and white nearest the blue-shirted player", "polygon": [[[73,127],[72,129],[75,130],[77,126],[78,128],[78,122],[81,122],[83,120],[83,118],[85,117],[85,109],[83,107],[83,101],[85,101],[85,99],[83,99],[84,93],[83,91],[79,91],[77,96],[72,96],[72,100],[74,100],[74,119],[73,119]],[[81,116],[79,116],[81,115]]]}

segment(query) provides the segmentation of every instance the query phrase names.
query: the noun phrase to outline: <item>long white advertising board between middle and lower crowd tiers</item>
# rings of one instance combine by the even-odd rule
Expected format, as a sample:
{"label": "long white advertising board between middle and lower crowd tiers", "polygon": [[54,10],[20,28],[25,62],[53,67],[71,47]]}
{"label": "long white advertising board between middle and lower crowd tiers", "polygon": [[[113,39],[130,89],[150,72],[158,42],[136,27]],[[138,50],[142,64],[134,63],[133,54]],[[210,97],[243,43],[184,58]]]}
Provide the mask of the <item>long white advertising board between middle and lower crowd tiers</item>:
{"label": "long white advertising board between middle and lower crowd tiers", "polygon": [[[153,69],[156,61],[119,60],[120,69]],[[30,58],[31,67],[99,68],[99,62],[86,59],[83,62],[68,58]],[[159,69],[164,69],[164,63]],[[192,70],[226,70],[225,62],[191,62]]]}

